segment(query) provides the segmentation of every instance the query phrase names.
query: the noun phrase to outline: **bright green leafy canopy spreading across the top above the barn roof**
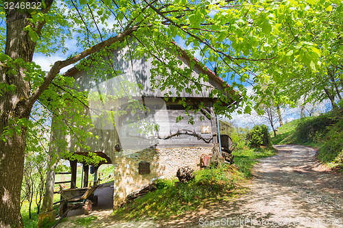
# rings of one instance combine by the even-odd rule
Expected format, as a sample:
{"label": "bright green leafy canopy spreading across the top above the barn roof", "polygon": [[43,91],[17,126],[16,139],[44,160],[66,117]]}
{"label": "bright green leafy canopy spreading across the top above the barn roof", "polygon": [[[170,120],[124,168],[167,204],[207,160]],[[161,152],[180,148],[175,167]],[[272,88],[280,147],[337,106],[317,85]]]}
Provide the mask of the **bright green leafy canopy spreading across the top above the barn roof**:
{"label": "bright green leafy canopy spreading across the top above the barn roof", "polygon": [[[43,9],[46,4],[47,1],[43,1]],[[4,4],[1,4],[0,16],[3,20],[6,12]],[[196,64],[192,57],[200,55],[201,63],[198,64],[215,65],[217,76],[240,92],[239,96],[238,91],[230,88],[226,88],[226,92],[209,88],[210,97],[218,97],[215,104],[218,114],[229,115],[237,109],[235,105],[223,105],[231,100],[239,103],[239,112],[249,113],[253,105],[251,97],[246,94],[249,84],[260,97],[274,96],[281,103],[292,97],[292,92],[289,92],[292,90],[275,93],[275,86],[268,86],[274,85],[270,81],[290,88],[289,81],[294,81],[296,77],[300,77],[298,81],[311,80],[316,75],[324,77],[328,67],[342,62],[342,2],[338,0],[67,0],[54,1],[49,10],[29,9],[27,12],[31,18],[25,31],[36,42],[36,53],[69,55],[61,66],[81,61],[80,67],[89,70],[91,64],[103,64],[106,69],[104,75],[115,75],[114,63],[106,58],[108,50],[130,46],[130,52],[123,58],[154,59],[152,81],[156,88],[176,88],[179,93],[183,90],[200,93],[202,81],[209,80],[207,75],[200,75],[197,79],[191,76]],[[34,27],[37,22],[45,23],[41,31]],[[119,38],[111,41],[113,37]],[[60,116],[67,112],[60,110],[60,107],[67,107],[67,101],[70,101],[69,104],[75,102],[79,106],[71,105],[68,111],[73,112],[73,123],[90,125],[90,120],[80,117],[87,94],[69,88],[73,79],[62,75],[51,76],[34,62],[10,59],[3,53],[5,38],[5,25],[2,24],[1,64],[10,66],[12,73],[15,73],[15,64],[25,66],[25,80],[31,82],[33,93],[44,84],[47,77],[53,77],[47,90],[41,94],[40,103],[51,114]],[[171,42],[180,39],[184,40],[188,47],[184,51],[191,57],[185,68],[178,67],[181,62],[176,55],[180,49]],[[73,45],[69,42],[73,42]],[[104,46],[107,49],[99,51],[98,44],[102,43],[106,43]],[[91,58],[84,59],[88,55]],[[303,73],[299,74],[299,71]],[[161,79],[156,80],[156,76]],[[11,86],[1,83],[1,92],[15,90]],[[14,127],[6,129],[5,134],[14,134],[14,131],[21,134],[20,126],[29,126],[29,123],[18,119],[12,125]],[[75,134],[78,125],[70,124],[64,131],[66,135]],[[87,136],[86,133],[80,135]]]}

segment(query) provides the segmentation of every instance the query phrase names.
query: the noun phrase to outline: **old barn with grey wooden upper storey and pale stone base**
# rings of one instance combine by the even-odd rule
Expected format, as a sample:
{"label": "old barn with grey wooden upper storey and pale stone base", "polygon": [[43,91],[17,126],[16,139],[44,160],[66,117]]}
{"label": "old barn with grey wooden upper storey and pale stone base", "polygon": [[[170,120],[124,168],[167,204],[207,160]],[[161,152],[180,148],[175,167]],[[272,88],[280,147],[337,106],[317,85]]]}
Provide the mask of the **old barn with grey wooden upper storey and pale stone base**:
{"label": "old barn with grey wooden upper storey and pale stone base", "polygon": [[[75,67],[65,73],[75,79],[79,90],[88,91],[86,114],[91,116],[94,127],[87,131],[99,138],[88,140],[87,146],[89,151],[104,153],[115,165],[115,206],[154,179],[175,177],[182,166],[198,169],[200,157],[211,155],[217,143],[213,107],[216,98],[210,98],[209,92],[213,88],[226,88],[228,97],[235,93],[199,62],[191,69],[191,76],[202,84],[200,92],[153,89],[150,79],[153,60],[126,60],[123,56],[127,51],[126,48],[113,50],[116,77],[104,75],[101,68],[83,71]],[[190,60],[184,51],[176,58],[182,62],[178,67],[189,67]],[[200,79],[200,75],[206,75],[208,80]],[[165,94],[169,99],[165,99]],[[188,108],[198,109],[199,105],[202,108],[196,113],[190,110],[193,118],[189,118],[180,100]],[[80,149],[73,136],[67,137],[69,151],[89,152]]]}

